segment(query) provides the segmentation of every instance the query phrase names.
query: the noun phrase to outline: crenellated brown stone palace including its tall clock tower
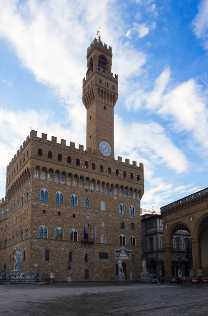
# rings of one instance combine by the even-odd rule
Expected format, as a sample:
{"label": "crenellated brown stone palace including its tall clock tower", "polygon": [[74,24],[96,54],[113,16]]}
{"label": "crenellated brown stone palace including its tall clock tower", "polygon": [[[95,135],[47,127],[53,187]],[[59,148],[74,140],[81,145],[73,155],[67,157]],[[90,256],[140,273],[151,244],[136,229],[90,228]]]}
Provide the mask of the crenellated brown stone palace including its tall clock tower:
{"label": "crenellated brown stone palace including its tall clock tower", "polygon": [[[49,278],[118,280],[141,272],[140,199],[143,165],[114,159],[114,106],[118,76],[111,72],[112,48],[100,36],[87,49],[83,104],[87,112],[86,150],[32,130],[7,167],[1,209],[1,269],[38,269]],[[70,262],[70,264],[69,264]],[[70,268],[69,268],[70,267]]]}

